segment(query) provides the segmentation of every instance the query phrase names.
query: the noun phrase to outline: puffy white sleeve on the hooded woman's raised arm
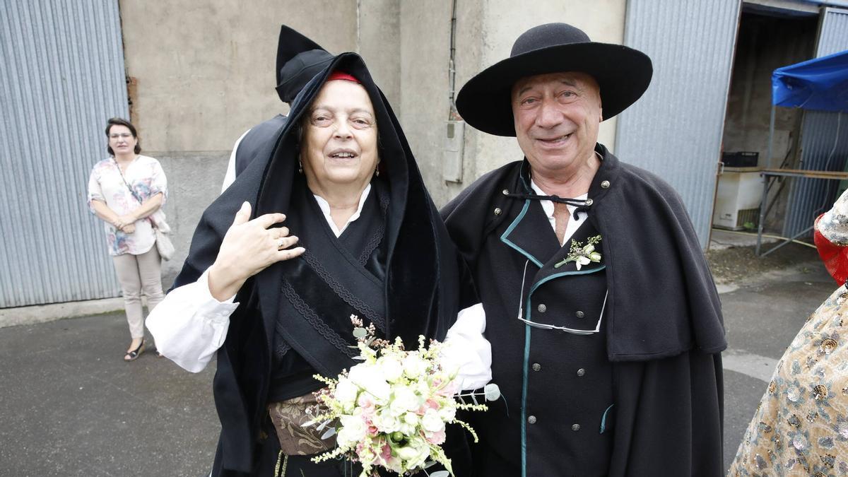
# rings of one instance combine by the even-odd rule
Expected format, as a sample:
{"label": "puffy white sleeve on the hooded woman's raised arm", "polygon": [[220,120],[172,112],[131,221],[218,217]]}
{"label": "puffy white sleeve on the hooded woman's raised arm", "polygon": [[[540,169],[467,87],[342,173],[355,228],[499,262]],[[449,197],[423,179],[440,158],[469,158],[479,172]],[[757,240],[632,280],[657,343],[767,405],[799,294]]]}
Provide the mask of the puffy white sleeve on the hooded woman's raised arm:
{"label": "puffy white sleeve on the hooded woman's raised arm", "polygon": [[199,373],[224,344],[235,295],[218,301],[209,293],[207,272],[197,282],[173,289],[153,308],[147,326],[156,350],[181,368]]}

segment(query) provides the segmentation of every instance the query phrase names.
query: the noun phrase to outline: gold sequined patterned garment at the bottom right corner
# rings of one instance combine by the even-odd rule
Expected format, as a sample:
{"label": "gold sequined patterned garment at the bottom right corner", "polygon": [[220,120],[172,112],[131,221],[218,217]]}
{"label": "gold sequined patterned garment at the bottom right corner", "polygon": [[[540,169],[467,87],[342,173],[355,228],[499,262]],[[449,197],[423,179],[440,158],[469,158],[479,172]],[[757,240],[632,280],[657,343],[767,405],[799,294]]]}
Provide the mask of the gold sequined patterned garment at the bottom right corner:
{"label": "gold sequined patterned garment at the bottom right corner", "polygon": [[848,475],[848,291],[837,289],[789,345],[730,477]]}

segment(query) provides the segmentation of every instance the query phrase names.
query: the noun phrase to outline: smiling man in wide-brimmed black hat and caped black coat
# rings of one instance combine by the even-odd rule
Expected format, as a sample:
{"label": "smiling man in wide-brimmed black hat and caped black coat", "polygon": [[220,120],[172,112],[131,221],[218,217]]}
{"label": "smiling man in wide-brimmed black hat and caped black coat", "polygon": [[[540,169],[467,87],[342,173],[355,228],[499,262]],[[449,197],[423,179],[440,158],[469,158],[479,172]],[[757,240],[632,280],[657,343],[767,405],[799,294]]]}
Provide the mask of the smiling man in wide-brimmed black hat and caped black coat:
{"label": "smiling man in wide-brimmed black hat and caped black coat", "polygon": [[666,182],[597,143],[651,74],[644,53],[540,25],[457,97],[524,153],[442,211],[505,396],[476,424],[479,475],[723,474],[726,342],[699,241]]}

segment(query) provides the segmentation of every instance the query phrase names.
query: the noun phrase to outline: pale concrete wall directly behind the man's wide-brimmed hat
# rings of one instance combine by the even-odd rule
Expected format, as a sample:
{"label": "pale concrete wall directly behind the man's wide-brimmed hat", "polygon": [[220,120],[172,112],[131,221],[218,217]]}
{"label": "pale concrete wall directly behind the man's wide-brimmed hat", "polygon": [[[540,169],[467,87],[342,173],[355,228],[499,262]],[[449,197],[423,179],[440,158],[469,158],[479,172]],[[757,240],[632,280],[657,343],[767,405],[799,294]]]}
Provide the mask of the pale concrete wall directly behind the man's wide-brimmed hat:
{"label": "pale concrete wall directly behind the man's wide-brimmed hat", "polygon": [[[621,43],[625,0],[566,0],[525,3],[508,0],[465,2],[457,6],[456,89],[480,70],[510,54],[527,29],[550,22],[576,25],[594,41]],[[477,177],[522,159],[511,137],[494,137],[466,127],[463,181],[445,183],[442,150],[449,119],[449,0],[403,2],[401,31],[401,123],[437,205],[444,205]],[[600,142],[615,146],[615,119],[600,128]]]}

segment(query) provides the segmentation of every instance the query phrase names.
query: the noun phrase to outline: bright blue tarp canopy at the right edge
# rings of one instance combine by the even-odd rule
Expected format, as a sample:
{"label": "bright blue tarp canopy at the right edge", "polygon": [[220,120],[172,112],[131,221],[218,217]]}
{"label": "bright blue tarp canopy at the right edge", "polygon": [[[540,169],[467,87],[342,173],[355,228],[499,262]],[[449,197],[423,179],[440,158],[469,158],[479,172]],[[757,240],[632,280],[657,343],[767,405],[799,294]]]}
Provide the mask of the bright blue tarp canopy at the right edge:
{"label": "bright blue tarp canopy at the right edge", "polygon": [[774,70],[772,103],[787,108],[848,111],[848,50]]}

